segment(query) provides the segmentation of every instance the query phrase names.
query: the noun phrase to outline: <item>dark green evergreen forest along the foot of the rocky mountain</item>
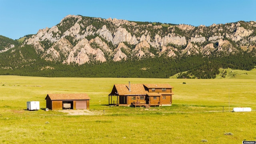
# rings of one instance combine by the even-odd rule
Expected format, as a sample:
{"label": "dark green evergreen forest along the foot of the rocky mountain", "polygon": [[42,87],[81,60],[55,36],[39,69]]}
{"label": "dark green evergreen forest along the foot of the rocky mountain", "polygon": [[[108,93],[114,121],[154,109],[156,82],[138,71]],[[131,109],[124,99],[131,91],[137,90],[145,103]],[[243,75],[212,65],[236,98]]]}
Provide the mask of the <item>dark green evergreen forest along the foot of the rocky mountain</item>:
{"label": "dark green evergreen forest along the foot of the rocky mountain", "polygon": [[115,78],[215,78],[219,68],[251,70],[256,58],[251,52],[228,56],[182,58],[154,57],[120,62],[94,62],[83,65],[46,61],[30,45],[0,53],[0,75],[43,77],[115,77]]}

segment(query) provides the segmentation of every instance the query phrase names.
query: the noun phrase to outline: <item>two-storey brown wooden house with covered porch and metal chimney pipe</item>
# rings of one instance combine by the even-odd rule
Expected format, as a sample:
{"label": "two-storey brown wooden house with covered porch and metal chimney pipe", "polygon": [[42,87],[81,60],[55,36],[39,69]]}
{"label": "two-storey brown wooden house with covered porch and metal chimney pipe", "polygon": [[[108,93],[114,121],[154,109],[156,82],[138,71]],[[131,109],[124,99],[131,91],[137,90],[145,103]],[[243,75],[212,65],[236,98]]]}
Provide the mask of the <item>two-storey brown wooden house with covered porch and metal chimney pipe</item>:
{"label": "two-storey brown wooden house with covered porch and metal chimney pipe", "polygon": [[108,95],[109,105],[117,106],[171,106],[170,84],[114,84]]}

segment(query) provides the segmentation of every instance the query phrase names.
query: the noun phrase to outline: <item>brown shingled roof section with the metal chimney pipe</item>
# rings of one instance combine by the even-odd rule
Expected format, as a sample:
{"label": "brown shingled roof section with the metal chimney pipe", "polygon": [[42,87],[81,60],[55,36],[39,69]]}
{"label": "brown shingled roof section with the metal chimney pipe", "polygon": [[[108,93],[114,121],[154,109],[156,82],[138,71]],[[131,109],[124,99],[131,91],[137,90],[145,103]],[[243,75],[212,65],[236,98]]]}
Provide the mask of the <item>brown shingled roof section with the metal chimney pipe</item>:
{"label": "brown shingled roof section with the metal chimney pipe", "polygon": [[131,92],[129,92],[129,84],[114,84],[118,95],[146,95],[143,84],[130,84]]}

